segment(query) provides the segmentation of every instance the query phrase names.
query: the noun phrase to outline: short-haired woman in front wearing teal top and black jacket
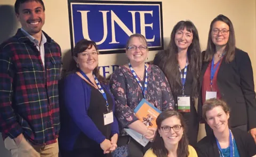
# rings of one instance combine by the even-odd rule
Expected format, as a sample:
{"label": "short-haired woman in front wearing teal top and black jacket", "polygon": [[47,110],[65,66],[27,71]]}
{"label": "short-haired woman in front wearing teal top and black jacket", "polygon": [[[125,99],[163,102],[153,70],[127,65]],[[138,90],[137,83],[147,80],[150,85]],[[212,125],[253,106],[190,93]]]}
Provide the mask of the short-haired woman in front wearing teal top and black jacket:
{"label": "short-haired woman in front wearing teal top and black jacket", "polygon": [[195,147],[198,157],[235,156],[256,157],[256,145],[252,136],[241,129],[229,129],[230,115],[226,102],[211,98],[204,103],[203,117],[213,129]]}

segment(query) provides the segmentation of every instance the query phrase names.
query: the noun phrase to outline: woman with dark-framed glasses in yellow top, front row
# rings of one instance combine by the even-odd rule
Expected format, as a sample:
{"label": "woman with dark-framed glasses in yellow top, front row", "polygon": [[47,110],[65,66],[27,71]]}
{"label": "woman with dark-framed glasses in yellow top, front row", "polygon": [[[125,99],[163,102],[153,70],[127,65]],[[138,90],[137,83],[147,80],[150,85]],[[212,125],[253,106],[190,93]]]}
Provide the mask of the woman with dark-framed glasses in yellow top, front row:
{"label": "woman with dark-framed glasses in yellow top, front row", "polygon": [[156,119],[158,131],[144,157],[197,157],[195,149],[188,145],[186,124],[182,115],[165,110]]}

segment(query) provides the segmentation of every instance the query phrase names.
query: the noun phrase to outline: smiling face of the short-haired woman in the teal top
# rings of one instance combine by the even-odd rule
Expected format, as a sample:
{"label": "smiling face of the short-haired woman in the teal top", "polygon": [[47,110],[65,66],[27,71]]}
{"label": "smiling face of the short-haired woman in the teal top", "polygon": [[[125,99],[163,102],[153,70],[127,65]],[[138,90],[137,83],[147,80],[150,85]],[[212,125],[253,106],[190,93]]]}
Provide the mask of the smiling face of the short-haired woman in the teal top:
{"label": "smiling face of the short-haired woman in the teal top", "polygon": [[228,128],[229,113],[225,113],[222,106],[216,106],[206,111],[206,121],[214,133],[222,133]]}

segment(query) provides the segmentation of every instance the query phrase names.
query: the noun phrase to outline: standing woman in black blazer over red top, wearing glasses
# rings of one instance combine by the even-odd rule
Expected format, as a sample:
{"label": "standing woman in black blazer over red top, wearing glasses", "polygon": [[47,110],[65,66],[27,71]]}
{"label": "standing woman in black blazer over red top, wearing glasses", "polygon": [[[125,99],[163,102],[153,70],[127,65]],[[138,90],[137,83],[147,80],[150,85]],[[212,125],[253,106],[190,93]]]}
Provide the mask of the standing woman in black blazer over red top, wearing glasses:
{"label": "standing woman in black blazer over red top, wearing glasses", "polygon": [[[199,116],[202,117],[202,104],[205,100],[212,97],[222,98],[232,112],[230,127],[250,130],[256,142],[256,101],[252,65],[249,55],[235,47],[233,24],[226,16],[218,15],[211,22],[207,49],[202,57]],[[205,130],[206,134],[212,133],[207,123]]]}

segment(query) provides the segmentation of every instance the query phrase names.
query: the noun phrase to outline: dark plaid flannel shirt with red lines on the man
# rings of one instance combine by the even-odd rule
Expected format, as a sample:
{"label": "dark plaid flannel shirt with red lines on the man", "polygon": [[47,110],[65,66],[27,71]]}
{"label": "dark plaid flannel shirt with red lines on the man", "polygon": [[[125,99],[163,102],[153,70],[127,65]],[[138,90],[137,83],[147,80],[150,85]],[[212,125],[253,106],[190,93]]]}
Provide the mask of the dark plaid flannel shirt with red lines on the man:
{"label": "dark plaid flannel shirt with red lines on the man", "polygon": [[37,145],[57,142],[61,49],[43,33],[47,39],[45,67],[40,52],[20,29],[0,45],[0,131],[3,139],[22,133]]}

